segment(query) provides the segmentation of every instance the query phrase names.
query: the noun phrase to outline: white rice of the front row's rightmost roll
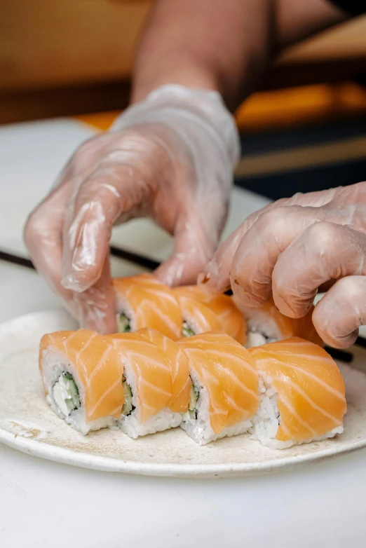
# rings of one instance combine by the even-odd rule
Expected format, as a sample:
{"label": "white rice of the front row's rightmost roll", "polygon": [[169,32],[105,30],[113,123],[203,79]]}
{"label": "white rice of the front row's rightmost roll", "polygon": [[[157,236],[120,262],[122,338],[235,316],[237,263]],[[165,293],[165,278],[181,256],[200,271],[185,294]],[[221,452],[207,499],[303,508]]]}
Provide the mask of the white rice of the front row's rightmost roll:
{"label": "white rice of the front row's rightmost roll", "polygon": [[276,434],[280,425],[280,413],[277,407],[278,393],[272,386],[272,379],[266,376],[263,371],[259,371],[259,407],[255,417],[252,420],[250,428],[251,438],[261,442],[262,445],[271,449],[285,449],[293,445],[309,444],[311,441],[321,441],[332,438],[336,434],[343,432],[343,426],[339,426],[326,432],[323,436],[316,436],[305,439],[304,441],[278,441]]}

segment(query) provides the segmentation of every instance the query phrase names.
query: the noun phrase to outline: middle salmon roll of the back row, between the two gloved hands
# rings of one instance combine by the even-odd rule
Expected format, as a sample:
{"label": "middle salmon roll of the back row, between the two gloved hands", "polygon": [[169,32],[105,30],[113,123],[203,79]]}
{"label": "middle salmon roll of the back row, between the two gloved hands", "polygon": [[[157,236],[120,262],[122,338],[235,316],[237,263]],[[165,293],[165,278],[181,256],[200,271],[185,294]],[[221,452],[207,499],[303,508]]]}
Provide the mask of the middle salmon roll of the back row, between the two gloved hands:
{"label": "middle salmon roll of the back row, between the two gloved hands", "polygon": [[172,291],[182,310],[183,336],[224,331],[238,343],[245,343],[245,318],[230,296],[201,285],[176,287]]}

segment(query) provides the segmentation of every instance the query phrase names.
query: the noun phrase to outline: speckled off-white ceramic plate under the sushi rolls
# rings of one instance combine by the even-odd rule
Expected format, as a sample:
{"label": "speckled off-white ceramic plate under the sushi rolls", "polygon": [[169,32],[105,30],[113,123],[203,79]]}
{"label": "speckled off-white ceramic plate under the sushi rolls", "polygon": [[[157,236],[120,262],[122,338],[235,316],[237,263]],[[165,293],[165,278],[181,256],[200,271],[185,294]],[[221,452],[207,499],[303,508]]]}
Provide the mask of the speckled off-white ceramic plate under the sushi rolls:
{"label": "speckled off-white ceramic plate under the sushi rolls", "polygon": [[356,350],[360,370],[341,365],[348,413],[344,434],[335,439],[273,451],[245,435],[199,447],[179,428],[137,440],[108,429],[84,437],[46,404],[37,364],[41,336],[73,328],[62,312],[30,314],[0,325],[0,442],[74,466],[176,477],[263,474],[366,446],[365,350]]}

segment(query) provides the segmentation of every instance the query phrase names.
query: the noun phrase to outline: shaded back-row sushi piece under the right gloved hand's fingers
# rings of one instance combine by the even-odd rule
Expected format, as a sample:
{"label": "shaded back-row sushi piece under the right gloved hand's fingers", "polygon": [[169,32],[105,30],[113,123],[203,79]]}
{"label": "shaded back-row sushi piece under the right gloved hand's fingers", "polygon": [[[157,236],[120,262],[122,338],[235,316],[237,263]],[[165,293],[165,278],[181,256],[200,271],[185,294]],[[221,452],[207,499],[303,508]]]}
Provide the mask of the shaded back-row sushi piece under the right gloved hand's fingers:
{"label": "shaded back-row sushi piece under the right gloved hand's fingers", "polygon": [[311,319],[314,307],[301,318],[291,318],[280,313],[273,299],[270,298],[260,308],[241,307],[247,320],[247,341],[245,346],[259,346],[289,337],[301,337],[307,341],[323,346],[324,343]]}

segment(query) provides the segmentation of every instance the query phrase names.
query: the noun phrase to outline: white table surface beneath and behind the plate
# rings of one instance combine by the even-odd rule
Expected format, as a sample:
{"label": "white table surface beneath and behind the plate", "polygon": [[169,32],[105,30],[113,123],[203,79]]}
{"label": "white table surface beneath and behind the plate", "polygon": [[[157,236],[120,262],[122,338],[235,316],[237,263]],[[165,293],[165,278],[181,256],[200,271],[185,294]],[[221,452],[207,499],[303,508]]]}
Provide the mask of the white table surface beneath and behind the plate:
{"label": "white table surface beneath and behind the plate", "polygon": [[[74,121],[0,129],[0,249],[25,254],[29,209],[72,150],[91,135]],[[225,235],[266,203],[236,189]],[[163,259],[170,238],[135,221],[114,243]],[[114,259],[113,272],[139,269]],[[36,273],[0,263],[0,321],[57,308]],[[236,480],[192,481],[82,470],[0,444],[1,548],[363,548],[366,451],[295,471]]]}

